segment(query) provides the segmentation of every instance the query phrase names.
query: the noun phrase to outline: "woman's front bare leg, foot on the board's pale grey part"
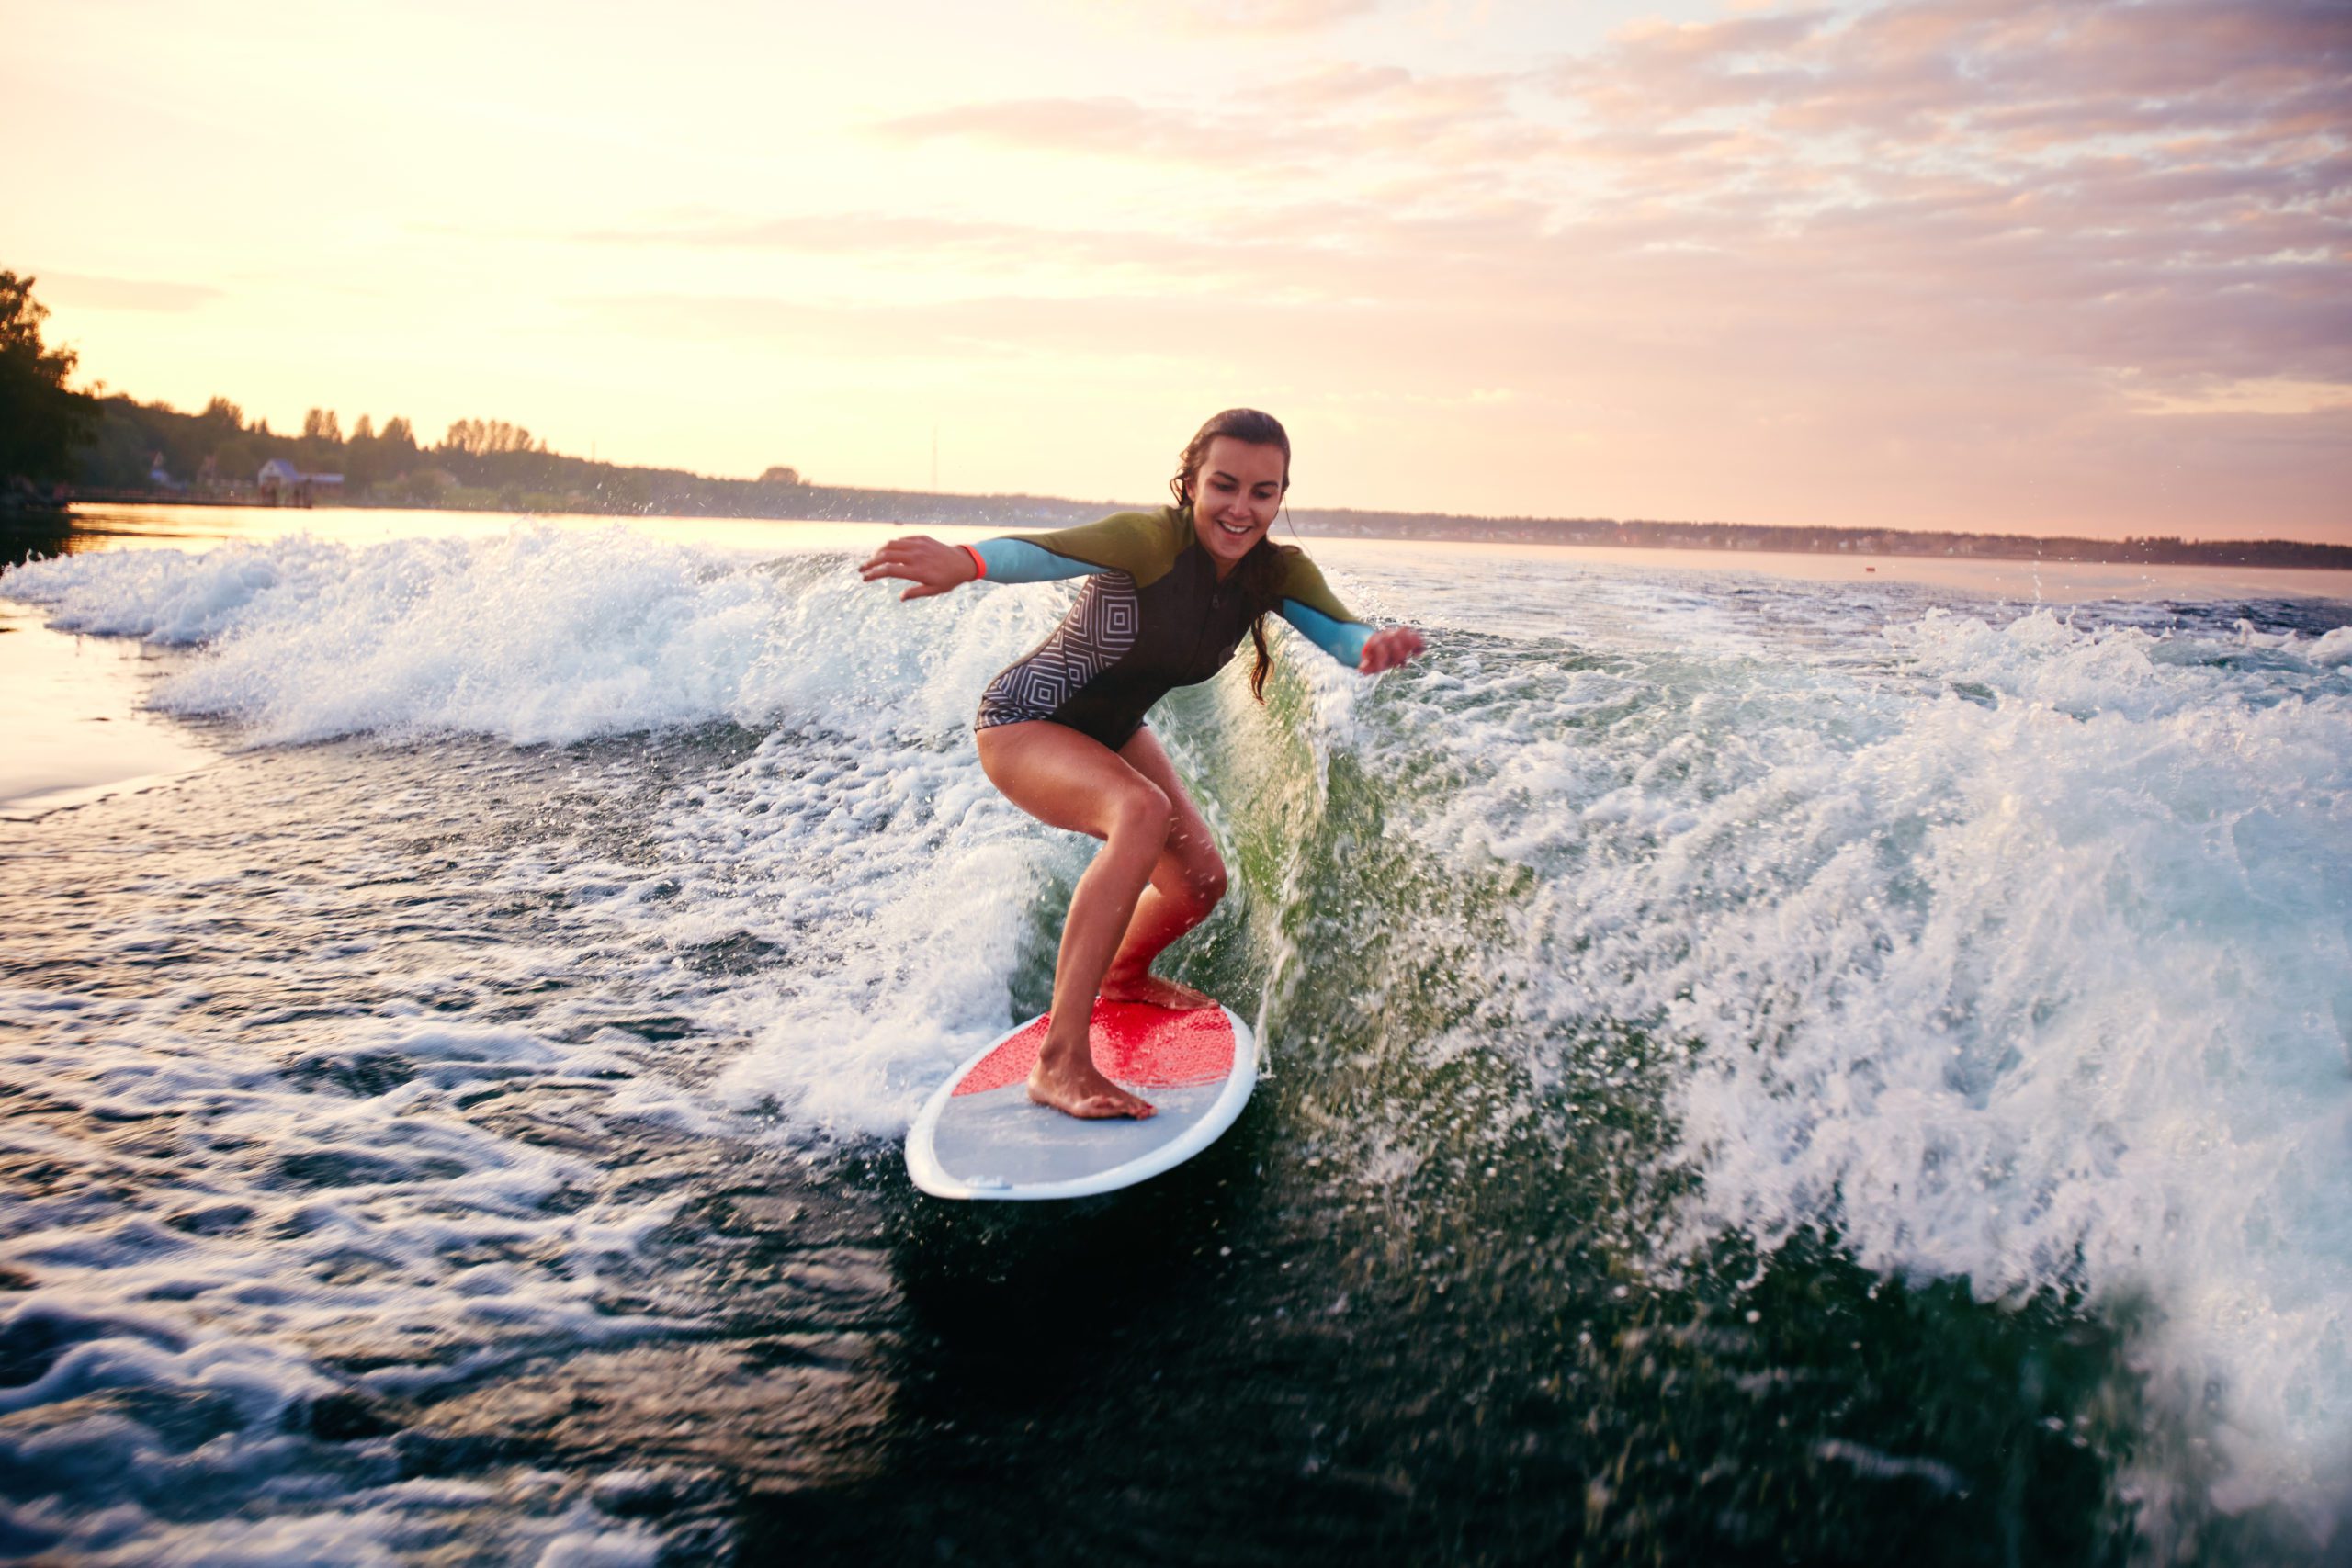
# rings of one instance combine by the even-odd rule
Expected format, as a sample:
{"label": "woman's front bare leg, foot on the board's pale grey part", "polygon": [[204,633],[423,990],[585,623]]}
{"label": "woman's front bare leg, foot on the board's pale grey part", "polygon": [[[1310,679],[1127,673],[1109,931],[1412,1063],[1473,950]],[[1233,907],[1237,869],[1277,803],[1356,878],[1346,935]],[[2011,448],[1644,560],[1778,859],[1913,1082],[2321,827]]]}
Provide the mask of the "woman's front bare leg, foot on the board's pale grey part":
{"label": "woman's front bare leg, foot on the board's pale grey part", "polygon": [[1061,926],[1054,1016],[1030,1072],[1030,1098],[1073,1117],[1148,1117],[1148,1103],[1096,1070],[1087,1025],[1110,954],[1167,849],[1169,797],[1108,745],[1063,724],[993,724],[978,733],[978,748],[981,769],[1009,802],[1049,827],[1103,839]]}

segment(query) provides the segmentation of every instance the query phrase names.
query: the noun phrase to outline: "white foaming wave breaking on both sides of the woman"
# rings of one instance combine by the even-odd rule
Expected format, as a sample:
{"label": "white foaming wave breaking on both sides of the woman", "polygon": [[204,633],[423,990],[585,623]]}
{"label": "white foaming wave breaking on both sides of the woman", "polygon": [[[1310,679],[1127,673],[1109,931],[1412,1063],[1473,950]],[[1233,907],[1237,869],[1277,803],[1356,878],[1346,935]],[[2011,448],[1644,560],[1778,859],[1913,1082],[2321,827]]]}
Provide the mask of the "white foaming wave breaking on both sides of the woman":
{"label": "white foaming wave breaking on both sides of the woman", "polygon": [[[2230,1497],[2324,1500],[2352,1432],[2352,628],[1780,585],[1757,630],[1689,578],[1477,571],[1505,567],[1428,595],[1461,623],[1416,675],[1291,658],[1270,710],[1225,682],[1155,719],[1242,872],[1195,978],[1265,994],[1277,1067],[1477,1053],[1529,1095],[1656,1093],[1661,1234],[1625,1244],[1658,1276],[1825,1227],[1987,1300],[2145,1302],[2152,1378],[2227,1389]],[[1042,997],[1084,846],[962,733],[1049,590],[898,604],[828,557],[517,529],[85,555],[0,592],[200,644],[155,703],[254,743],[753,731],[663,792],[649,865],[534,872],[724,969],[689,1001],[739,1041],[708,1086],[731,1114],[889,1135]],[[1404,1023],[1315,994],[1369,947]],[[1399,1093],[1357,1105],[1369,1182],[1430,1157]]]}

